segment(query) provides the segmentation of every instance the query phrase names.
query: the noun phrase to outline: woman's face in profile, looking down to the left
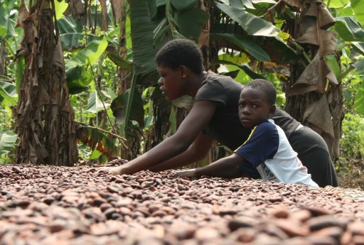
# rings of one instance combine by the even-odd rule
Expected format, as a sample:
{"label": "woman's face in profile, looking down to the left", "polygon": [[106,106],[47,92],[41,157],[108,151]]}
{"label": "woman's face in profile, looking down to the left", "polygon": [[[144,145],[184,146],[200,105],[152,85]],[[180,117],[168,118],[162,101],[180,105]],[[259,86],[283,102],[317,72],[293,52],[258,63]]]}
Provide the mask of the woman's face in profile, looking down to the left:
{"label": "woman's face in profile, looking down to the left", "polygon": [[166,100],[172,101],[183,96],[184,86],[186,86],[186,81],[184,81],[186,74],[183,74],[181,69],[174,70],[169,67],[158,66],[158,72],[161,76],[158,81],[159,89],[161,89]]}

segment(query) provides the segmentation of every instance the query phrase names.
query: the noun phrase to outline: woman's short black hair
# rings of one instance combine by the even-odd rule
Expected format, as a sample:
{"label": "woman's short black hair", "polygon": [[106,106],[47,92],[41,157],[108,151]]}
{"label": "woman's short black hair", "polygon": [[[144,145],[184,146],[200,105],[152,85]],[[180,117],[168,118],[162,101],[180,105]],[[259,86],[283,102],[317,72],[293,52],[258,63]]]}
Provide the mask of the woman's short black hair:
{"label": "woman's short black hair", "polygon": [[188,39],[174,39],[166,43],[156,54],[156,64],[177,69],[181,65],[196,74],[203,72],[203,58],[200,48]]}

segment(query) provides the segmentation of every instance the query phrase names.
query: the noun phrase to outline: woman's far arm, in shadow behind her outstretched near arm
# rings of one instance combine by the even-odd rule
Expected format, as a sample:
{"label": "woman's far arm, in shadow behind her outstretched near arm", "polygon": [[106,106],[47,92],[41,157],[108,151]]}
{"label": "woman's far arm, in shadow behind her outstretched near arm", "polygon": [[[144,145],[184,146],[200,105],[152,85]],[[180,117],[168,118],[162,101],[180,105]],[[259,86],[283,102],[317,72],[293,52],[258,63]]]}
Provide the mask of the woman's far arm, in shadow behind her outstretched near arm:
{"label": "woman's far arm, in shadow behind her outstretched near arm", "polygon": [[192,145],[183,153],[178,156],[154,165],[149,170],[159,172],[171,168],[179,168],[191,163],[196,163],[208,155],[211,146],[213,146],[214,139],[209,136],[204,136],[202,133],[193,141]]}

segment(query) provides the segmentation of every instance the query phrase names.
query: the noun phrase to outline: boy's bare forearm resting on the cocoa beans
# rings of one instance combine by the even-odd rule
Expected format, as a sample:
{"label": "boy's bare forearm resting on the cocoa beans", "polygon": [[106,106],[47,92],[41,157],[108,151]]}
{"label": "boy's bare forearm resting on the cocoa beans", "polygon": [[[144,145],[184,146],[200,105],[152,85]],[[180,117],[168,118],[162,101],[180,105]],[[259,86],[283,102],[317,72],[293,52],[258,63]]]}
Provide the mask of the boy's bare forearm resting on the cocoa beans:
{"label": "boy's bare forearm resting on the cocoa beans", "polygon": [[[176,177],[200,177],[202,175],[211,177],[228,177],[222,176],[228,170],[237,170],[237,167],[244,159],[236,153],[226,158],[221,158],[210,165],[203,168],[196,168],[193,170],[186,170],[181,173],[176,173]],[[235,176],[232,176],[235,177]]]}

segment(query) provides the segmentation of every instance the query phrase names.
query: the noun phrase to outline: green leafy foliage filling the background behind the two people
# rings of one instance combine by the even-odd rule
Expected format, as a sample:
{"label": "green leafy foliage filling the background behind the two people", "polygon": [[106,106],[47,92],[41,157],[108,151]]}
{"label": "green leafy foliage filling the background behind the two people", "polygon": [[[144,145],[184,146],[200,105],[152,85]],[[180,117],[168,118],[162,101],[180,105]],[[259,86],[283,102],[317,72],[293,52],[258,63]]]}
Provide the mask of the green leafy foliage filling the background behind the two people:
{"label": "green leafy foliage filling the background behind the two people", "polygon": [[[287,28],[292,21],[299,23],[296,6],[306,1],[122,1],[122,16],[113,13],[109,1],[87,2],[87,18],[77,18],[77,14],[64,16],[68,3],[55,1],[70,103],[78,125],[78,164],[133,158],[176,131],[191,98],[170,104],[155,89],[159,77],[154,55],[166,40],[207,42],[210,50],[203,50],[207,68],[242,84],[265,77],[276,85],[277,104],[282,108],[287,105],[290,70],[296,69],[292,64],[300,63],[297,70],[302,70],[313,58],[308,51],[312,47],[297,43]],[[21,3],[0,3],[4,13],[0,16],[0,162],[14,163],[17,93],[25,69],[18,53],[23,38],[23,28],[17,27]],[[336,21],[328,30],[338,34],[336,53],[331,60],[327,56],[326,64],[343,90],[341,156],[336,169],[343,176],[342,185],[363,187],[364,6],[358,0],[324,4]],[[249,18],[254,25],[246,25]],[[277,50],[268,50],[267,45]],[[224,153],[216,146],[210,159],[199,164]]]}

